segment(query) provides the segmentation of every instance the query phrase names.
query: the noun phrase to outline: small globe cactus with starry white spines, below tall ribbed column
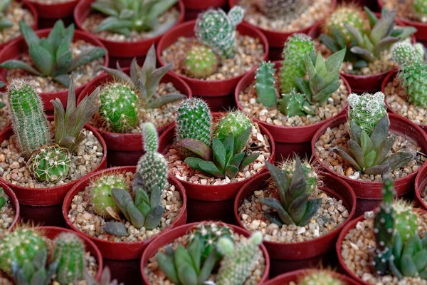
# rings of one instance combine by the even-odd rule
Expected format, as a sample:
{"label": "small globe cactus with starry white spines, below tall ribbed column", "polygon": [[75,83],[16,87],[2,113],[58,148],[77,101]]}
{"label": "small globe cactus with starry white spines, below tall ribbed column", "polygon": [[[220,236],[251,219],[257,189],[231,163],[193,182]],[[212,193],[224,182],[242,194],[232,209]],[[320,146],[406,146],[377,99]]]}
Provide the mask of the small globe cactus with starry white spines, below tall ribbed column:
{"label": "small globe cactus with starry white spines, below tall ribbed column", "polygon": [[27,162],[28,170],[36,180],[56,183],[68,177],[70,152],[59,145],[46,145],[34,150]]}

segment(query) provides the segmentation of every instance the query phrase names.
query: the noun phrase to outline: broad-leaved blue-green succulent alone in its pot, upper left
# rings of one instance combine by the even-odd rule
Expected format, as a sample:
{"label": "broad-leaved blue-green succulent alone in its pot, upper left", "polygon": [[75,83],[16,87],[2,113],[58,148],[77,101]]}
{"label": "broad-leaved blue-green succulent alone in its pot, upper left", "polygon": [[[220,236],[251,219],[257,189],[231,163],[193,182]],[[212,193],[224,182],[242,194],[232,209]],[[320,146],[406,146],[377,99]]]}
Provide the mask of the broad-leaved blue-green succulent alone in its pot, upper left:
{"label": "broad-leaved blue-green succulent alone in its pot, upper left", "polygon": [[6,69],[23,69],[36,76],[48,76],[65,87],[70,85],[71,72],[107,53],[105,48],[94,47],[73,58],[69,46],[73,41],[74,25],[65,28],[62,20],[56,22],[47,38],[39,38],[23,21],[19,22],[19,28],[34,67],[17,59],[4,61],[0,66]]}

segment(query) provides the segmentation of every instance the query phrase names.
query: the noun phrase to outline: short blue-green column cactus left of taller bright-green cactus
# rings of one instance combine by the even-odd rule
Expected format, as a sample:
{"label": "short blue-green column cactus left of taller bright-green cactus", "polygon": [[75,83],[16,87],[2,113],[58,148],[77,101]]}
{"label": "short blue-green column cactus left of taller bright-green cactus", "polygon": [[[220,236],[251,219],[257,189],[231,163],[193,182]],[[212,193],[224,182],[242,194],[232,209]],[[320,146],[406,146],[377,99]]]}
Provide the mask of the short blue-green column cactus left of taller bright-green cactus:
{"label": "short blue-green column cactus left of taller bright-green cactus", "polygon": [[265,107],[278,105],[278,91],[274,86],[274,74],[276,70],[273,66],[274,64],[270,63],[270,61],[268,63],[263,61],[255,71],[256,101],[262,103]]}

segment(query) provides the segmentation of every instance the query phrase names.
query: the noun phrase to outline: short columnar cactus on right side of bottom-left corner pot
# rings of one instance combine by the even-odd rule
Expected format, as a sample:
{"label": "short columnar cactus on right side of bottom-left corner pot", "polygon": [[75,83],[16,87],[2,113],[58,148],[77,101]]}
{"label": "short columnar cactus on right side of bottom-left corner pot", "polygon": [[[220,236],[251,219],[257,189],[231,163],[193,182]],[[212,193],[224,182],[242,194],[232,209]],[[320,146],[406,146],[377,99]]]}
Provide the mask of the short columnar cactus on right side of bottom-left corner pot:
{"label": "short columnar cactus on right side of bottom-left corner pot", "polygon": [[55,239],[54,260],[58,262],[56,281],[70,284],[83,279],[85,270],[85,245],[75,234],[64,232]]}

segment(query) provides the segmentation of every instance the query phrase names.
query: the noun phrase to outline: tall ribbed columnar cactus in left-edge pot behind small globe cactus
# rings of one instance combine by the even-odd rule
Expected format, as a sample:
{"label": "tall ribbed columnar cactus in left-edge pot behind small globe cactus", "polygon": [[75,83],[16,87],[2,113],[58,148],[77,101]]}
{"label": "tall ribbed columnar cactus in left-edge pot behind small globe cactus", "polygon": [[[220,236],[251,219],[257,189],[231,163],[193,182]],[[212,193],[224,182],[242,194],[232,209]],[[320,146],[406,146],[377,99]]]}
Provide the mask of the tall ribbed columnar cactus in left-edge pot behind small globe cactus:
{"label": "tall ribbed columnar cactus in left-edge pot behind small globe cactus", "polygon": [[19,148],[28,158],[33,150],[51,142],[43,103],[33,87],[22,79],[11,81],[7,98]]}

